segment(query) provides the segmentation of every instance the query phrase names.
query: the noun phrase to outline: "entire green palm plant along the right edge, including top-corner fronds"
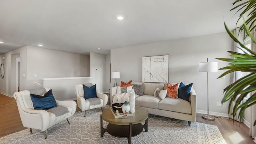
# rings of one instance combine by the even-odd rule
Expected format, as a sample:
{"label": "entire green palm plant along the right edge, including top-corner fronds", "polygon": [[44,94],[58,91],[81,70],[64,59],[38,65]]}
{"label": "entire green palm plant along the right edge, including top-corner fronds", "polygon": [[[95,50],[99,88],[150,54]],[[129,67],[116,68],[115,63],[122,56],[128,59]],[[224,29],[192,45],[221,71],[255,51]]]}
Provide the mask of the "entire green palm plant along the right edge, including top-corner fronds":
{"label": "entire green palm plant along the right edge, including top-corner fronds", "polygon": [[[232,5],[237,4],[241,1],[243,0],[236,0]],[[242,18],[245,13],[249,12],[248,20],[244,21],[244,24],[240,27],[239,32],[244,30],[246,32],[246,35],[251,39],[251,41],[256,44],[256,39],[251,34],[251,32],[255,32],[256,28],[256,0],[247,0],[246,2],[242,2],[238,6],[232,8],[232,10],[235,10],[236,8],[240,8],[237,12],[243,10],[240,14],[239,19]],[[242,121],[246,108],[256,104],[256,52],[244,46],[242,42],[239,42],[234,34],[228,29],[226,24],[224,25],[230,37],[242,47],[240,49],[244,53],[228,51],[231,54],[230,56],[233,58],[217,58],[218,60],[229,62],[229,66],[220,68],[220,70],[228,71],[224,72],[218,78],[221,78],[226,74],[235,71],[250,72],[250,74],[240,78],[239,80],[236,80],[234,83],[227,86],[224,89],[225,94],[222,99],[222,103],[230,101],[228,106],[228,112],[230,112],[230,109],[232,108],[232,103],[235,102],[231,115],[235,117],[236,112],[240,110],[238,118],[240,118],[240,121]],[[244,98],[250,92],[252,93],[251,97],[248,98],[243,104],[241,104],[242,100],[244,100]],[[254,125],[256,125],[256,121],[254,121]]]}

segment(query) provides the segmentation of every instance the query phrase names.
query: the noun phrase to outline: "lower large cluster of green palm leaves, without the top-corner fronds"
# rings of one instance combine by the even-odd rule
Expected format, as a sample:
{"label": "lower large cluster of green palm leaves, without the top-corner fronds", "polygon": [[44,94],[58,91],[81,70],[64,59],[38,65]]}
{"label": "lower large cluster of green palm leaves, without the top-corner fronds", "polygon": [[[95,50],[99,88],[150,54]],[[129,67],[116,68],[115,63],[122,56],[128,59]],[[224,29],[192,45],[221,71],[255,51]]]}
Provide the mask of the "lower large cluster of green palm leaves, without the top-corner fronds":
{"label": "lower large cluster of green palm leaves, without the top-corner fronds", "polygon": [[[250,34],[250,31],[248,30],[247,25],[244,23],[244,28],[246,31],[246,34],[251,38],[252,42],[256,43],[256,40]],[[233,58],[216,58],[218,60],[223,60],[230,62],[230,66],[226,66],[224,68],[220,68],[220,70],[228,70],[224,72],[222,75],[220,75],[218,78],[221,78],[225,76],[226,74],[229,74],[231,72],[235,71],[241,71],[241,72],[250,72],[250,74],[240,78],[239,80],[236,80],[236,82],[230,84],[224,89],[224,97],[222,99],[222,103],[229,102],[228,106],[228,112],[230,112],[230,109],[232,108],[232,102],[235,102],[233,106],[233,112],[232,116],[236,116],[236,112],[240,109],[240,112],[238,114],[238,118],[240,118],[240,121],[242,121],[244,112],[246,108],[256,104],[256,93],[254,90],[256,90],[256,52],[250,50],[244,44],[239,42],[237,38],[234,36],[234,34],[228,29],[228,27],[225,24],[226,31],[230,35],[230,37],[237,42],[242,48],[240,48],[244,54],[238,53],[238,52],[231,52],[228,51]],[[246,52],[247,50],[248,52]],[[251,95],[246,102],[241,104],[242,100],[247,96],[248,93],[252,92]],[[256,121],[254,122],[254,125],[256,124]]]}

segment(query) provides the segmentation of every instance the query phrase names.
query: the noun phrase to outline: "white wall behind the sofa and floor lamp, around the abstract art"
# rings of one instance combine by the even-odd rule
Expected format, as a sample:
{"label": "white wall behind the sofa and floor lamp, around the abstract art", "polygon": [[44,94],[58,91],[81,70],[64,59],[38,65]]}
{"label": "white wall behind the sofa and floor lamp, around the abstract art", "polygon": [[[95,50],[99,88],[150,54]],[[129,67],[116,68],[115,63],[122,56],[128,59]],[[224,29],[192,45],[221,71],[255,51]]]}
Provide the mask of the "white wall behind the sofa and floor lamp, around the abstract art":
{"label": "white wall behind the sofa and floor lamp, around the abstract art", "polygon": [[[215,58],[229,58],[227,51],[233,49],[233,41],[224,33],[142,44],[111,50],[111,71],[120,72],[120,81],[142,81],[142,57],[169,54],[169,81],[193,83],[197,94],[197,110],[207,112],[207,73],[198,72],[198,63],[217,61],[218,68],[226,62]],[[223,98],[223,89],[232,82],[230,74],[225,79],[216,79],[224,71],[209,72],[210,114],[228,114],[228,103],[217,106]],[[114,82],[112,82],[114,84]]]}

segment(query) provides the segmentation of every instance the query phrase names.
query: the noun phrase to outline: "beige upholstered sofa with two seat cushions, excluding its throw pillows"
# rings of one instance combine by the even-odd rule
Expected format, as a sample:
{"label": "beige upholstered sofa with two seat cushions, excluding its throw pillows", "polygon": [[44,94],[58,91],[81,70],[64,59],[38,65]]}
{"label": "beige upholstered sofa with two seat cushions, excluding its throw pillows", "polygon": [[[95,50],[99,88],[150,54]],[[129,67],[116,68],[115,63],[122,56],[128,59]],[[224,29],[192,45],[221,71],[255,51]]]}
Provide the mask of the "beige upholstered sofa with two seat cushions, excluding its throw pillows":
{"label": "beige upholstered sofa with two seat cushions, excluding its throw pillows", "polygon": [[[196,92],[192,87],[190,92],[190,102],[181,98],[166,97],[160,99],[154,96],[156,88],[160,90],[166,89],[166,83],[144,83],[132,82],[134,84],[141,84],[144,87],[144,95],[136,96],[135,106],[140,106],[148,111],[149,114],[165,116],[188,121],[196,122]],[[117,87],[112,87],[110,92],[110,102],[113,102],[113,96],[116,94]]]}

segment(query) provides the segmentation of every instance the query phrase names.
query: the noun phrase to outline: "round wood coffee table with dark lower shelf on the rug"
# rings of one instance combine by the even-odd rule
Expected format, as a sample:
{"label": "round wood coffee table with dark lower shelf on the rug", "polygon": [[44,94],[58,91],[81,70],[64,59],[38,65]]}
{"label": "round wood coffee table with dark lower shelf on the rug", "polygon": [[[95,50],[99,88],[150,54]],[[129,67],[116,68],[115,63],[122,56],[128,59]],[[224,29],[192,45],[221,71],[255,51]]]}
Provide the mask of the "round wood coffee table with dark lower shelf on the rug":
{"label": "round wood coffee table with dark lower shelf on the rug", "polygon": [[[100,114],[100,136],[103,137],[105,132],[119,138],[128,138],[128,143],[132,143],[132,137],[137,136],[145,129],[148,132],[148,111],[144,108],[135,106],[133,116],[127,118],[114,118],[111,109],[108,108]],[[102,119],[108,122],[107,128],[102,127]],[[145,124],[142,125],[141,122]]]}

